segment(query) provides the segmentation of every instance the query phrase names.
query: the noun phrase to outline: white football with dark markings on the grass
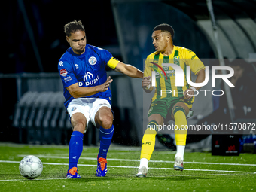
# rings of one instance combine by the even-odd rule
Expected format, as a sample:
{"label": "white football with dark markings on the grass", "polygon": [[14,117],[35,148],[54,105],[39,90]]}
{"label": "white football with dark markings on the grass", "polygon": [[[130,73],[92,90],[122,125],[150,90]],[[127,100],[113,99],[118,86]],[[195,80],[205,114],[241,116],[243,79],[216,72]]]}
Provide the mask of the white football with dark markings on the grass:
{"label": "white football with dark markings on the grass", "polygon": [[43,163],[38,157],[34,155],[29,155],[24,157],[20,161],[20,174],[25,178],[33,179],[41,175],[43,171]]}

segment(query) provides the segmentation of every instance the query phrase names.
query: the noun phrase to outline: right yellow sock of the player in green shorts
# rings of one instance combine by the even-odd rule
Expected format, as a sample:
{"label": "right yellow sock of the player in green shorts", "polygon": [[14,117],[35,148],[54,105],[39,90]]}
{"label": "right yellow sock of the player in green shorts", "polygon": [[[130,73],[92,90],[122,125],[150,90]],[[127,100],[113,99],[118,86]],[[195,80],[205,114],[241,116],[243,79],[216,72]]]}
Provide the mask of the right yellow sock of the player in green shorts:
{"label": "right yellow sock of the player in green shorts", "polygon": [[176,145],[186,145],[186,140],[187,140],[187,130],[185,130],[187,128],[186,112],[184,108],[177,106],[174,108],[173,113],[174,113],[174,119],[175,119],[174,133],[175,133]]}

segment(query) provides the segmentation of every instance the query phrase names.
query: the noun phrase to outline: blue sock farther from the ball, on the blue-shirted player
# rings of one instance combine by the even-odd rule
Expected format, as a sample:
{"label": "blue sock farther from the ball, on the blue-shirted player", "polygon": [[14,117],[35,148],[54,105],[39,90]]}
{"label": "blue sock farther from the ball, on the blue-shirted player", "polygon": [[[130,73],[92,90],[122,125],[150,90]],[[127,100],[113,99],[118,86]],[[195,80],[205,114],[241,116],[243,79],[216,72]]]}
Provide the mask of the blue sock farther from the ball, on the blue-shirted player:
{"label": "blue sock farther from the ball, on the blue-shirted player", "polygon": [[108,148],[111,144],[111,139],[114,134],[114,126],[112,125],[110,129],[104,129],[102,126],[99,127],[99,154],[98,158],[107,158]]}

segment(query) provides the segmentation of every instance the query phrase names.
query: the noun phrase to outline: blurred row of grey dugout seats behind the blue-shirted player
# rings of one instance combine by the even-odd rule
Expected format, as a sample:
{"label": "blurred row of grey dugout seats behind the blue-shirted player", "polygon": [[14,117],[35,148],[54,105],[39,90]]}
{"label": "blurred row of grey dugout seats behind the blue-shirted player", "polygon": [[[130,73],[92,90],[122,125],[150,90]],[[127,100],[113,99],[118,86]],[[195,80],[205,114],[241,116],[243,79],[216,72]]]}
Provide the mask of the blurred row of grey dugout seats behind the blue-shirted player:
{"label": "blurred row of grey dugout seats behind the blue-shirted player", "polygon": [[[72,133],[62,92],[26,92],[17,102],[13,126],[19,130],[19,142],[29,144],[69,144]],[[89,123],[84,145],[98,145],[99,129]]]}

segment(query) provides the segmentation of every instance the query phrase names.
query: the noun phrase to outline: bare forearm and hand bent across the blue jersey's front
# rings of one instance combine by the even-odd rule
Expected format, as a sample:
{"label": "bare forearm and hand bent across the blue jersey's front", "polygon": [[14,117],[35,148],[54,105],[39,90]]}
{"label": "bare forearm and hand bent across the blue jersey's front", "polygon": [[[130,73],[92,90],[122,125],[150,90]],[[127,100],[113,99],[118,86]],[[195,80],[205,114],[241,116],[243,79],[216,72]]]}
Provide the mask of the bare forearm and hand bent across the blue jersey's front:
{"label": "bare forearm and hand bent across the blue jersey's front", "polygon": [[106,90],[108,90],[109,84],[111,84],[112,81],[113,79],[111,79],[109,76],[107,81],[105,81],[104,84],[94,86],[94,87],[79,87],[78,83],[76,83],[67,87],[67,90],[69,90],[69,93],[74,98],[92,96],[96,93],[105,92]]}

